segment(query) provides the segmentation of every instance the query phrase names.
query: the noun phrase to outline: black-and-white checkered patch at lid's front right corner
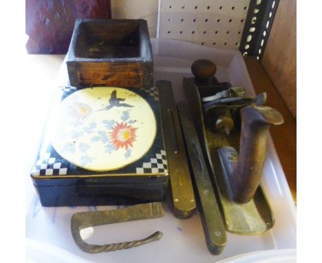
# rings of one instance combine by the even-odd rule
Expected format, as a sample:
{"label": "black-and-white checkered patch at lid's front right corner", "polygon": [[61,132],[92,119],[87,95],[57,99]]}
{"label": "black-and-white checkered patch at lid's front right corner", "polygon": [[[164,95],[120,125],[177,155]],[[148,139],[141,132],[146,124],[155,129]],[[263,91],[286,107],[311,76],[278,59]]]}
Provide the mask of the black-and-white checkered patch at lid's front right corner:
{"label": "black-and-white checkered patch at lid's front right corner", "polygon": [[150,162],[143,162],[142,167],[136,168],[136,173],[167,173],[168,162],[166,151],[161,150],[160,154],[155,154],[155,158],[150,158]]}

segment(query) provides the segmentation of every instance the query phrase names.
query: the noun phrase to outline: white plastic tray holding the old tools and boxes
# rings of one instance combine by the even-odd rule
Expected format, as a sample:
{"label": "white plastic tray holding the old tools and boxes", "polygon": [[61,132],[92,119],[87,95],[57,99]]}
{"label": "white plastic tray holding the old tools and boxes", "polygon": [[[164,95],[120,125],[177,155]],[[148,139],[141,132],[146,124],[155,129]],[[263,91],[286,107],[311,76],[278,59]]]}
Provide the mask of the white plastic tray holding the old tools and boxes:
{"label": "white plastic tray holding the old tools and boxes", "polygon": [[[216,77],[219,81],[244,86],[248,94],[254,94],[246,65],[239,52],[214,50],[166,39],[152,39],[151,43],[155,81],[171,81],[177,101],[185,99],[182,77],[192,76],[190,66],[195,59],[211,59],[217,65]],[[66,80],[65,65],[62,66],[60,75],[60,79]],[[41,207],[34,194],[26,215],[27,257],[34,262],[217,262],[254,251],[293,251],[296,249],[296,210],[271,138],[261,185],[274,212],[275,227],[254,236],[227,233],[226,248],[221,255],[211,255],[208,252],[198,213],[189,220],[179,220],[169,212],[167,204],[164,204],[164,218],[95,227],[94,235],[86,240],[93,244],[109,244],[138,240],[154,231],[162,231],[164,235],[160,241],[129,250],[87,254],[78,249],[72,239],[70,218],[80,211],[116,207],[45,208]]]}

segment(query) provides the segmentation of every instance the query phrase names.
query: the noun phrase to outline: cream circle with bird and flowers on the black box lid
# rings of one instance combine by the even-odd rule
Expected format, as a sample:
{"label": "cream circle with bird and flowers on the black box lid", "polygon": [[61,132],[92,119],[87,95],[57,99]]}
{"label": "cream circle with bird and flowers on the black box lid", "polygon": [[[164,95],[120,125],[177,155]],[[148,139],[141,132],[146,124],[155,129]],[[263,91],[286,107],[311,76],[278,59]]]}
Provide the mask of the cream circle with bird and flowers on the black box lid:
{"label": "cream circle with bird and flowers on the black box lid", "polygon": [[149,151],[156,123],[149,103],[120,87],[78,90],[55,111],[51,143],[63,158],[91,171],[109,171]]}

